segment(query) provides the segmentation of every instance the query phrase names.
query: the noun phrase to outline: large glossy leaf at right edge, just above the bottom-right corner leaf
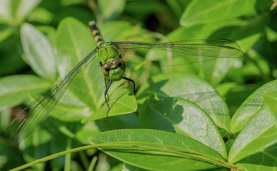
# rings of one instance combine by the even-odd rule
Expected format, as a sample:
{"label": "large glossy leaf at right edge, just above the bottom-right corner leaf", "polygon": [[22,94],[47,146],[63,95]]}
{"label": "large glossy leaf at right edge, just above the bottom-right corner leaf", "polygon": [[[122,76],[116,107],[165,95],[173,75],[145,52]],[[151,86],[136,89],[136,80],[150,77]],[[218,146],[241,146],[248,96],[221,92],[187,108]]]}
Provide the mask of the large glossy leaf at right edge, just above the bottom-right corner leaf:
{"label": "large glossy leaf at right edge, just above the bottom-right corner leaf", "polygon": [[235,163],[275,144],[277,142],[276,122],[267,105],[263,105],[235,139],[228,161]]}

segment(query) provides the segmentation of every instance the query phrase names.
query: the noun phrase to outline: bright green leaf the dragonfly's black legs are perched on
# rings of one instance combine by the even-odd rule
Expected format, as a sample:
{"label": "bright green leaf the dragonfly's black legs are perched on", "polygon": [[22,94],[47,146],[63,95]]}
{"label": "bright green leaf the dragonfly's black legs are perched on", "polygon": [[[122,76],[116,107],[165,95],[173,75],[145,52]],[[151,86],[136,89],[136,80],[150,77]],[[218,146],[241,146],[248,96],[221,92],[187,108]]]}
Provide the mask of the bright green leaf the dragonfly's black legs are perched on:
{"label": "bright green leaf the dragonfly's black legs are perched on", "polygon": [[[133,113],[137,110],[138,105],[136,97],[134,96],[133,89],[129,86],[120,86],[116,91],[109,95],[110,111],[108,116],[122,115],[127,113]],[[106,104],[102,105],[101,108],[92,114],[88,118],[84,118],[82,123],[95,121],[97,119],[105,118],[108,107]]]}

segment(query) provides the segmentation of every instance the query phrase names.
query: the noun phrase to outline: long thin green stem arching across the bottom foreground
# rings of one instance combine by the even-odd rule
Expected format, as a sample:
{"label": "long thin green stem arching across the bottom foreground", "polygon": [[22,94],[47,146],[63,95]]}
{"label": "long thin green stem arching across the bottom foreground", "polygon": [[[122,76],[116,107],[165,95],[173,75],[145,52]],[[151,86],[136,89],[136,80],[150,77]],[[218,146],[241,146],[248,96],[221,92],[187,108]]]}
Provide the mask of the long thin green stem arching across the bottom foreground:
{"label": "long thin green stem arching across the bottom foreground", "polygon": [[[26,169],[32,165],[41,163],[41,162],[45,162],[48,160],[51,160],[53,158],[56,157],[60,157],[62,155],[68,154],[68,153],[73,153],[73,152],[78,152],[81,150],[86,150],[86,149],[92,149],[92,148],[128,148],[128,149],[138,149],[138,150],[145,150],[145,151],[153,151],[156,152],[158,154],[162,154],[162,155],[171,155],[171,156],[176,156],[176,157],[184,157],[184,158],[191,158],[191,159],[195,159],[195,160],[199,160],[199,161],[204,161],[204,162],[208,162],[214,165],[219,165],[221,167],[226,167],[226,168],[231,168],[231,169],[236,169],[239,171],[243,171],[243,169],[239,168],[238,166],[228,163],[226,161],[223,160],[219,160],[216,159],[210,159],[204,156],[200,156],[198,154],[191,154],[191,153],[186,153],[186,152],[180,152],[180,151],[174,151],[174,150],[170,150],[170,149],[160,149],[160,148],[156,148],[156,147],[145,147],[145,146],[138,146],[138,145],[122,145],[123,143],[117,142],[117,144],[115,143],[101,143],[101,144],[96,144],[96,145],[86,145],[86,146],[82,146],[82,147],[78,147],[75,149],[69,149],[66,151],[62,151],[60,153],[56,153],[56,154],[52,154],[50,156],[46,156],[43,157],[41,159],[38,159],[36,161],[27,163],[25,165],[21,165],[17,168],[11,169],[11,171],[16,171],[16,170],[22,170],[22,169]],[[126,144],[126,142],[124,142],[124,144]],[[161,144],[155,144],[157,146],[161,145]],[[171,146],[173,148],[176,148],[174,146]]]}

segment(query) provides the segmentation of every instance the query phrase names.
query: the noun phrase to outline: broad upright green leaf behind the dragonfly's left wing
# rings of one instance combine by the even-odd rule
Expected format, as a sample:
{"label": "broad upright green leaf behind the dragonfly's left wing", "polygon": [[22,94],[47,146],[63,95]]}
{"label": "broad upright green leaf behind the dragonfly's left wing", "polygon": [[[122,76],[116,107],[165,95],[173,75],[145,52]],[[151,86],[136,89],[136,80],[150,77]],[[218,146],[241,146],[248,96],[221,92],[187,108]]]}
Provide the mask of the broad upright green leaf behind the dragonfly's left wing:
{"label": "broad upright green leaf behind the dragonfly's left wing", "polygon": [[[70,17],[63,19],[59,23],[54,44],[57,49],[56,62],[60,77],[64,77],[69,73],[87,54],[94,50],[96,46],[89,28],[78,20]],[[97,62],[94,63],[96,65]],[[78,79],[82,80],[84,84],[82,84],[83,87],[78,87],[78,90],[88,91],[86,96],[78,97],[78,90],[76,90],[74,86],[72,88],[69,87],[67,91],[71,91],[72,96],[75,96],[74,98],[79,98],[81,102],[83,102],[81,106],[85,107],[87,105],[90,107],[90,110],[94,112],[104,102],[103,92],[105,91],[105,82],[104,78],[100,79],[102,75],[98,67],[92,68],[91,73],[94,73],[94,78],[99,78],[94,82],[94,84],[99,87],[91,87],[90,83],[93,83],[91,81],[93,78],[87,77],[87,73],[81,71],[78,75],[80,78]]]}

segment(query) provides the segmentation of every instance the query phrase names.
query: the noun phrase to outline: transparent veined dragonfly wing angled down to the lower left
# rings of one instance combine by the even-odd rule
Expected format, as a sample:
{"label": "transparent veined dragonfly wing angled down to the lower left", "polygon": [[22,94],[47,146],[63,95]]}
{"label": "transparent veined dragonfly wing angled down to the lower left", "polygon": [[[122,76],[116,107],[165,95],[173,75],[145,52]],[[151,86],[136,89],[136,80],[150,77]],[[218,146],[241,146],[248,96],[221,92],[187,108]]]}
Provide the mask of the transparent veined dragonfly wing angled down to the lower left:
{"label": "transparent veined dragonfly wing angled down to the lower left", "polygon": [[96,50],[88,54],[54,87],[14,117],[5,131],[7,143],[19,144],[24,138],[37,131],[42,121],[43,124],[50,122],[73,108],[98,79],[103,82],[95,53]]}

